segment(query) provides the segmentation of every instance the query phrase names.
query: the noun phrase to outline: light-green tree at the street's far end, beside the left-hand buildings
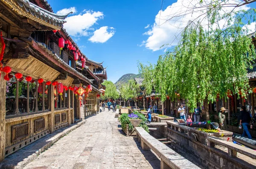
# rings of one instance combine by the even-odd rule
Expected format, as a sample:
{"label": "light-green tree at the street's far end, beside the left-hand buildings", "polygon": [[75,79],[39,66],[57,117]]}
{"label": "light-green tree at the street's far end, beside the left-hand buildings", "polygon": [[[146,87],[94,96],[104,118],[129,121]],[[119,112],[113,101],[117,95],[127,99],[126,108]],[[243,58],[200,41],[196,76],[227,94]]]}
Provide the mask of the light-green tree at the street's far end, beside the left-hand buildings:
{"label": "light-green tree at the street's far end, beside the left-hand buildings", "polygon": [[119,93],[117,92],[116,86],[113,82],[105,80],[102,84],[106,86],[105,95],[101,96],[102,99],[112,98],[116,100],[117,98],[119,98]]}

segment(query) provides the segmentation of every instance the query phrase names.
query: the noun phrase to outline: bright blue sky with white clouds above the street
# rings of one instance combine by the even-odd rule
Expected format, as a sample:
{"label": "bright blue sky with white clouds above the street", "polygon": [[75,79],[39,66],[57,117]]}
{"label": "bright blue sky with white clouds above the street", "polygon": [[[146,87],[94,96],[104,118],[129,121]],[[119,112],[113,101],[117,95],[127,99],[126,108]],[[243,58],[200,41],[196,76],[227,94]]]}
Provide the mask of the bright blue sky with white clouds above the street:
{"label": "bright blue sky with white clouds above the street", "polygon": [[[89,59],[104,61],[108,80],[115,83],[123,74],[137,74],[137,61],[156,63],[165,49],[177,44],[175,37],[180,32],[177,27],[183,28],[189,18],[165,21],[181,12],[186,4],[163,0],[161,6],[161,1],[48,0],[48,3],[58,14],[74,11],[64,28]],[[171,45],[159,49],[167,43]]]}

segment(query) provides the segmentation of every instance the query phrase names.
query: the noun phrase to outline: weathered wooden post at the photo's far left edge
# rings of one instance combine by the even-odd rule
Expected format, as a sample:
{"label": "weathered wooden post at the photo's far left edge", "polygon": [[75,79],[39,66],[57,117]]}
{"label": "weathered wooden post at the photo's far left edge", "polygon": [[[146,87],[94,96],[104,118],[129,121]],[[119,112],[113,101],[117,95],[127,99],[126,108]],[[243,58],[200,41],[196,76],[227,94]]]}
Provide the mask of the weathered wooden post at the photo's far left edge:
{"label": "weathered wooden post at the photo's far left edge", "polygon": [[6,81],[5,73],[0,75],[0,162],[4,160],[6,145]]}

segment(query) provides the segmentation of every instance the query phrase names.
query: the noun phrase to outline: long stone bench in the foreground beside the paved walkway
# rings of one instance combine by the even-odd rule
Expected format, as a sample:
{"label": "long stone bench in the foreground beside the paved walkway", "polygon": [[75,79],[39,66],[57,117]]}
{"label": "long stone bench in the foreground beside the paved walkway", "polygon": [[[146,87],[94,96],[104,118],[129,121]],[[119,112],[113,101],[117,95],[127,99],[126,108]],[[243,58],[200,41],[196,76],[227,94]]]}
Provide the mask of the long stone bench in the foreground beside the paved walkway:
{"label": "long stone bench in the foreground beside the paved walkway", "polygon": [[149,135],[142,127],[135,127],[136,137],[143,150],[152,149],[161,159],[161,169],[200,169],[159,140]]}

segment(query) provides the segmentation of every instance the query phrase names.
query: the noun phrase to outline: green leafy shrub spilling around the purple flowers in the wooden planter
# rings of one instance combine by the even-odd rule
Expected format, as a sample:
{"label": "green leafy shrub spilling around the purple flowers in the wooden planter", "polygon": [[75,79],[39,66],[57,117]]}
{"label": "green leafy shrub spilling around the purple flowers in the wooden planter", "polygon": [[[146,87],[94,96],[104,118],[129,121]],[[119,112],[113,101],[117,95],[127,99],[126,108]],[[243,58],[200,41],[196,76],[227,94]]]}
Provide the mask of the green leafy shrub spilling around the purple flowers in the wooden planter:
{"label": "green leafy shrub spilling around the purple flowers in the wooden planter", "polygon": [[[137,119],[142,120],[139,127],[142,127],[143,129],[145,129],[146,132],[149,132],[148,126],[146,124],[148,119],[145,117],[145,115],[143,115],[142,113],[139,113],[138,111],[133,111],[133,113],[135,115],[138,115]],[[129,119],[131,119],[131,118],[128,117],[128,114],[126,114],[126,113],[122,114],[119,118],[122,128],[126,128],[126,125],[128,124],[128,130],[131,131],[133,129],[133,125],[131,124]]]}

